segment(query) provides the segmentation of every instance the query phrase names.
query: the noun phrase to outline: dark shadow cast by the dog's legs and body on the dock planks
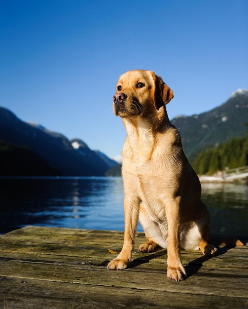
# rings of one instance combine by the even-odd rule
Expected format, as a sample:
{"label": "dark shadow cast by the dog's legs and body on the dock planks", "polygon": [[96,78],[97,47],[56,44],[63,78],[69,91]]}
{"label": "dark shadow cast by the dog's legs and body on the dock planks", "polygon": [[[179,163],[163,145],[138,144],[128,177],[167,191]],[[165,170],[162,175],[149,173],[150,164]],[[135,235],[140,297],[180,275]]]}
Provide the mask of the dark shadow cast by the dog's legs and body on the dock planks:
{"label": "dark shadow cast by the dog's legs and body on the dock planks", "polygon": [[[225,254],[229,249],[230,248],[227,248],[227,247],[218,248],[214,257],[221,256],[221,255]],[[137,267],[139,265],[149,263],[150,260],[161,257],[161,256],[165,256],[165,255],[167,255],[167,249],[158,249],[154,253],[151,253],[149,255],[145,255],[145,256],[142,256],[140,258],[134,259],[132,262],[130,262],[128,268],[134,268],[134,267]],[[185,266],[185,270],[187,272],[187,277],[190,277],[193,274],[197,273],[202,268],[203,263],[212,259],[212,258],[213,258],[213,256],[202,255],[201,257],[189,262]],[[166,259],[165,259],[164,262],[165,262],[165,270],[166,270]],[[213,269],[210,268],[209,271],[211,271],[211,270],[213,270]]]}

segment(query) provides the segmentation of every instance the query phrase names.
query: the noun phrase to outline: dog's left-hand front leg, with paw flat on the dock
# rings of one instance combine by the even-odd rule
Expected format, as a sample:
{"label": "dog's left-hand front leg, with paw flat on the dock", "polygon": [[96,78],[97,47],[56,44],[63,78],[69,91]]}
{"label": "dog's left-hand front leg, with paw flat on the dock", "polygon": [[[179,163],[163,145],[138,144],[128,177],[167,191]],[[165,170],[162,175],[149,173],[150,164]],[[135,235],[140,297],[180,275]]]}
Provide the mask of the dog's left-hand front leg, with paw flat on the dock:
{"label": "dog's left-hand front leg, with paw flat on the dock", "polygon": [[125,230],[124,243],[120,254],[108,265],[108,270],[124,270],[128,267],[134,249],[135,233],[140,210],[140,199],[135,196],[124,198]]}

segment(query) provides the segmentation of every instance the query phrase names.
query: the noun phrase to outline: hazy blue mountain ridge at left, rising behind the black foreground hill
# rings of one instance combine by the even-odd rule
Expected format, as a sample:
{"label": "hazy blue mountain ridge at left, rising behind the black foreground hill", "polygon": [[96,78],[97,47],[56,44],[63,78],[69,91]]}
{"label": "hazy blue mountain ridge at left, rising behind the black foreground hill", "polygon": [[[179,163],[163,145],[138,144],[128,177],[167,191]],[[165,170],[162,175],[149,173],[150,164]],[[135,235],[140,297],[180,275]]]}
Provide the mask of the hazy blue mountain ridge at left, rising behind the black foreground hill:
{"label": "hazy blue mountain ridge at left, rising behind the black foreground hill", "polygon": [[104,176],[116,164],[106,162],[81,140],[70,141],[39,124],[24,122],[1,107],[0,140],[30,148],[64,176]]}

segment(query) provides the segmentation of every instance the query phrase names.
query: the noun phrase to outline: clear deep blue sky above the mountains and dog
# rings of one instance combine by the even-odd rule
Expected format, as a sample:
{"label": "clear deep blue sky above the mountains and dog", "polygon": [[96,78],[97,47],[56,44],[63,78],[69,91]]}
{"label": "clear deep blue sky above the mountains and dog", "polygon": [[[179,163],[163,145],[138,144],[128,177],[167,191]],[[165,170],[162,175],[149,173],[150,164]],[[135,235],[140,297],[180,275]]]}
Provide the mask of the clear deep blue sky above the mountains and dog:
{"label": "clear deep blue sky above the mountains and dog", "polygon": [[248,89],[247,0],[0,0],[0,106],[110,157],[126,133],[116,81],[153,70],[170,119]]}

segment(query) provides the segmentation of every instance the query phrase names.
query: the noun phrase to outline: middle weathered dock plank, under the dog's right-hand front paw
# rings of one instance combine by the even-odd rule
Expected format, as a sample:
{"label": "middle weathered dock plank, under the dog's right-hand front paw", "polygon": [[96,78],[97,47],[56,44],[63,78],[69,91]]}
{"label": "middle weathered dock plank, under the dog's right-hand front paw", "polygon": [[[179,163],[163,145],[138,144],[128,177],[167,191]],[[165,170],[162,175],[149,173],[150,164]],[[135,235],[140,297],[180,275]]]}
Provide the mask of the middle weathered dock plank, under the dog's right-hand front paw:
{"label": "middle weathered dock plank, under the dog's right-hand front paw", "polygon": [[199,295],[229,295],[232,297],[246,295],[248,297],[248,277],[238,273],[232,277],[230,289],[229,275],[222,273],[198,273],[178,284],[167,278],[166,270],[144,271],[143,268],[136,267],[135,269],[111,271],[106,270],[106,267],[92,265],[1,260],[0,276],[142,290],[150,290],[152,286],[153,290],[158,291],[178,293],[183,291],[183,293],[193,292]]}

